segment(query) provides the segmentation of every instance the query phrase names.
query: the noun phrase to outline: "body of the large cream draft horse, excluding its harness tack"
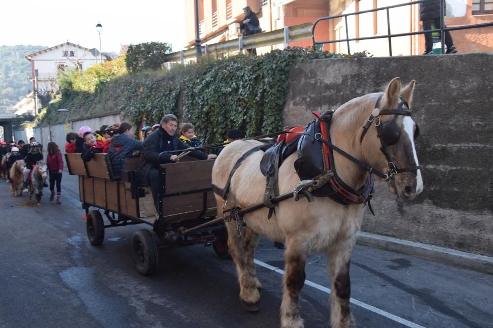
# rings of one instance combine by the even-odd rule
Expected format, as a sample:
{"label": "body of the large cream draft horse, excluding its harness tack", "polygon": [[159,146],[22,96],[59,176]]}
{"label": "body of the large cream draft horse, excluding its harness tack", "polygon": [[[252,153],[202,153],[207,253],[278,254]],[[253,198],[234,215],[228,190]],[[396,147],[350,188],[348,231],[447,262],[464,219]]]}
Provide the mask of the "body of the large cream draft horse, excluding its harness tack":
{"label": "body of the large cream draft horse, excluding its harness tack", "polygon": [[[368,164],[368,171],[384,172],[385,174],[375,177],[376,183],[388,180],[389,191],[395,192],[403,200],[413,199],[423,191],[414,143],[418,127],[410,117],[414,86],[413,80],[402,88],[400,78],[394,78],[388,83],[384,93],[368,94],[346,102],[333,113],[329,131],[333,145]],[[392,112],[398,111],[397,107],[404,108],[405,114],[401,110],[399,115],[394,115]],[[393,111],[379,116],[383,110]],[[378,125],[385,125],[386,122],[395,124],[394,132],[398,133],[399,138],[387,148],[383,147],[382,138],[377,137],[382,134],[378,132],[381,128],[375,117],[379,118]],[[367,122],[371,125],[367,125]],[[365,134],[366,137],[363,138]],[[215,195],[218,217],[234,206],[246,208],[262,203],[266,185],[266,178],[260,170],[262,151],[255,151],[246,157],[229,178],[237,161],[260,144],[257,140],[234,141],[215,160],[212,168],[213,186],[224,188],[230,179],[226,199]],[[387,154],[381,149],[386,149]],[[335,151],[333,156],[337,174],[346,185],[354,190],[364,185],[369,176],[367,170]],[[297,154],[294,152],[279,167],[279,195],[291,192],[300,183],[293,167],[296,159]],[[396,167],[407,169],[399,170]],[[395,174],[397,172],[399,173]],[[262,234],[285,243],[281,327],[304,327],[298,298],[305,282],[305,261],[316,252],[325,253],[329,258],[331,327],[355,327],[350,309],[349,267],[363,210],[361,203],[341,204],[329,197],[315,197],[312,202],[290,198],[275,206],[270,219],[269,209],[264,207],[245,214],[243,223],[225,220],[229,236],[228,247],[237,268],[242,305],[249,311],[259,309],[262,285],[257,278],[253,257],[259,234]]]}

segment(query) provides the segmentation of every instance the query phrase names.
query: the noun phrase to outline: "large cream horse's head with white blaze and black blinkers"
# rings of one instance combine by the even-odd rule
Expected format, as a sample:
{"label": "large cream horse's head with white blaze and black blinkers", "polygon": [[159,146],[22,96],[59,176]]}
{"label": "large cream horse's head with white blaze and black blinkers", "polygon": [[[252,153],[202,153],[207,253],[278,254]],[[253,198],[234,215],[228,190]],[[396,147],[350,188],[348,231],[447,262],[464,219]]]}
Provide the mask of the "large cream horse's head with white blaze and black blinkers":
{"label": "large cream horse's head with white blaze and black blinkers", "polygon": [[[369,163],[385,173],[382,179],[388,180],[389,191],[401,199],[413,199],[423,191],[415,147],[419,128],[411,118],[415,82],[402,88],[400,78],[392,79],[369,108],[371,114],[360,137],[363,152],[371,154]],[[365,134],[373,137],[365,138]]]}

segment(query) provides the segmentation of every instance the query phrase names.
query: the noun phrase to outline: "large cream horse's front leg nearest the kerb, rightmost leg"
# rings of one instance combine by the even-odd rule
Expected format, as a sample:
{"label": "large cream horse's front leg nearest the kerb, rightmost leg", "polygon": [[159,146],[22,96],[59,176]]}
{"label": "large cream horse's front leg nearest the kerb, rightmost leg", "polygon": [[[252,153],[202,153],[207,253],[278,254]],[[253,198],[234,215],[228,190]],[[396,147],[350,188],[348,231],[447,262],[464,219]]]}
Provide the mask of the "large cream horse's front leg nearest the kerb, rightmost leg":
{"label": "large cream horse's front leg nearest the kerb, rightmost leg", "polygon": [[332,290],[330,294],[332,328],[356,327],[350,309],[351,280],[349,277],[354,242],[354,238],[338,242],[328,251]]}

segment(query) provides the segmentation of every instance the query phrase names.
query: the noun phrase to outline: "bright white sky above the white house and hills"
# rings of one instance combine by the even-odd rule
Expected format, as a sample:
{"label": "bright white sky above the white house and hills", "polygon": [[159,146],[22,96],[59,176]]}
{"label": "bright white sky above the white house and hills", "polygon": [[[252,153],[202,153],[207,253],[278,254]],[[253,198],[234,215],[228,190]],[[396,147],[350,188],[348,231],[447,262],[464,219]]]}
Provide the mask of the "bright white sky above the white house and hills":
{"label": "bright white sky above the white house and hills", "polygon": [[0,46],[55,46],[69,40],[104,52],[120,44],[159,41],[184,45],[182,0],[0,0]]}

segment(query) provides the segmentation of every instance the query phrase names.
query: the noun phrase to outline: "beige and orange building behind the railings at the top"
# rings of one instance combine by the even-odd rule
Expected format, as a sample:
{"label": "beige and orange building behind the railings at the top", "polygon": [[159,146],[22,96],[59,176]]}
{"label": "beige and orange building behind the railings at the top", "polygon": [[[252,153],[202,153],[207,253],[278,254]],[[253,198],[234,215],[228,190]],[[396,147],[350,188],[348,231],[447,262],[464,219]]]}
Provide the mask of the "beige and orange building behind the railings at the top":
{"label": "beige and orange building behind the railings at the top", "polygon": [[[244,18],[243,8],[252,7],[257,13],[263,31],[273,31],[285,26],[315,22],[317,18],[347,14],[385,7],[411,0],[199,0],[199,31],[202,44],[238,38],[239,22]],[[448,27],[479,24],[493,21],[493,0],[446,0]],[[185,0],[187,47],[195,43],[195,0]],[[419,5],[408,5],[389,10],[392,34],[422,31]],[[350,38],[387,34],[386,11],[348,17]],[[452,31],[454,44],[460,53],[493,51],[493,27]],[[344,18],[322,21],[315,30],[317,41],[346,38]],[[292,42],[290,46],[307,47],[312,40]],[[282,48],[283,45],[276,47]],[[260,53],[273,47],[259,49]],[[325,44],[325,50],[347,53],[346,42]],[[374,56],[388,56],[388,39],[350,42],[351,53],[369,51]],[[419,55],[424,51],[424,37],[420,35],[392,38],[392,55]]]}

